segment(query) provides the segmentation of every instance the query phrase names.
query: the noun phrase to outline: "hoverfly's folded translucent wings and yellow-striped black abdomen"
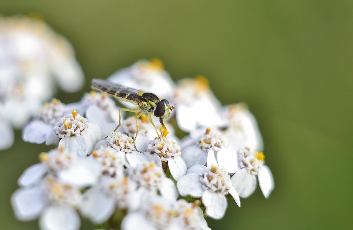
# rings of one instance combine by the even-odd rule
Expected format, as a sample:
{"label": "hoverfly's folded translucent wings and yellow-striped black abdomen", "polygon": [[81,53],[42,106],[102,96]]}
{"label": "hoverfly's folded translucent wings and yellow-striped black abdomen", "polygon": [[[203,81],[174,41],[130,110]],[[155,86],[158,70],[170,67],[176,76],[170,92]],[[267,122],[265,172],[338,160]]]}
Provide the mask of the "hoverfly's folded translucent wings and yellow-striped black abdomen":
{"label": "hoverfly's folded translucent wings and yellow-striped black abdomen", "polygon": [[122,85],[118,85],[106,80],[96,79],[96,78],[92,79],[91,85],[92,85],[91,86],[92,89],[106,92],[108,95],[116,97],[119,100],[128,101],[131,103],[134,103],[134,102],[145,103],[145,101],[142,100],[142,98],[138,95],[138,93],[141,91],[137,89],[128,88]]}

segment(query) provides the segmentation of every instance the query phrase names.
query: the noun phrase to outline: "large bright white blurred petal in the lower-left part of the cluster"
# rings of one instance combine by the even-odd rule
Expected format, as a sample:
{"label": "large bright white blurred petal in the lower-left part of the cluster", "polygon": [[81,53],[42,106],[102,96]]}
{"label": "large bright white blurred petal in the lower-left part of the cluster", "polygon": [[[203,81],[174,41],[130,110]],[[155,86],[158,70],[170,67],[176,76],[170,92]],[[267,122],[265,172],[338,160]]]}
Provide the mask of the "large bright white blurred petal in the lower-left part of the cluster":
{"label": "large bright white blurred petal in the lower-left part of the cluster", "polygon": [[86,157],[72,163],[69,168],[61,170],[58,177],[71,185],[88,186],[94,184],[100,174],[100,165],[92,158]]}

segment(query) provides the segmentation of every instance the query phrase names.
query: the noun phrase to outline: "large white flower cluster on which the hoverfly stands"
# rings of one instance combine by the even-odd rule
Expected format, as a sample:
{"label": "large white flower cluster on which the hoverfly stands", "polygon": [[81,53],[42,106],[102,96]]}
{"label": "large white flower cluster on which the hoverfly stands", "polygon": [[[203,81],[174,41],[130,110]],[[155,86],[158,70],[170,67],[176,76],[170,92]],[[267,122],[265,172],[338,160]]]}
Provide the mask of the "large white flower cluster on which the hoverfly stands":
{"label": "large white flower cluster on which the hoverfly stands", "polygon": [[68,105],[54,99],[24,129],[25,141],[58,147],[20,176],[11,197],[18,219],[39,218],[40,228],[49,230],[77,230],[80,216],[104,229],[208,230],[204,216],[222,218],[227,197],[240,207],[257,180],[269,197],[273,176],[244,104],[222,107],[203,76],[175,84],[156,59],[110,79],[176,102],[174,128],[189,134],[180,140],[172,125],[165,124],[167,131],[157,119],[158,138],[147,116],[122,118],[114,130],[119,107],[105,93]]}

